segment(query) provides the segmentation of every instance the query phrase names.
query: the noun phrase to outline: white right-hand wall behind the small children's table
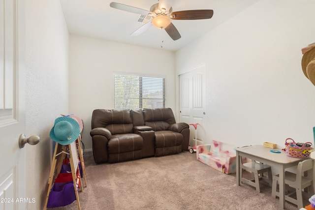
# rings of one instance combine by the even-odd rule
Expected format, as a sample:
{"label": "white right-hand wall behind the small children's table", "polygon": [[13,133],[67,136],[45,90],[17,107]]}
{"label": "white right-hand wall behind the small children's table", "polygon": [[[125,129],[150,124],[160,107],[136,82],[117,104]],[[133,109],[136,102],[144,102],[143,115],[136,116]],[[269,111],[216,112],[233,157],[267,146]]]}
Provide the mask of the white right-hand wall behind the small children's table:
{"label": "white right-hand wall behind the small children's table", "polygon": [[315,42],[314,8],[260,0],[176,52],[178,74],[206,64],[205,143],[314,141],[315,87],[301,68],[301,48]]}

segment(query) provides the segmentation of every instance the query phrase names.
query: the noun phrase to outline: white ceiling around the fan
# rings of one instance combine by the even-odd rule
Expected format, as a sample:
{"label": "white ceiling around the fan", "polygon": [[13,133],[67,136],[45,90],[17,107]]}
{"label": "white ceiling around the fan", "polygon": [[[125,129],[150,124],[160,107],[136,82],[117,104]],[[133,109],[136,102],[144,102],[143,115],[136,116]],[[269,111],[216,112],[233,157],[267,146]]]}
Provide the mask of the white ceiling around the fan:
{"label": "white ceiling around the fan", "polygon": [[[172,20],[181,34],[179,40],[171,39],[165,30],[152,26],[139,36],[129,36],[143,24],[137,14],[114,9],[110,2],[150,10],[158,0],[60,0],[65,21],[71,34],[78,34],[108,41],[161,48],[176,51],[237,15],[258,0],[174,0],[173,11],[213,9],[214,15],[206,20]],[[163,40],[163,43],[162,43]]]}

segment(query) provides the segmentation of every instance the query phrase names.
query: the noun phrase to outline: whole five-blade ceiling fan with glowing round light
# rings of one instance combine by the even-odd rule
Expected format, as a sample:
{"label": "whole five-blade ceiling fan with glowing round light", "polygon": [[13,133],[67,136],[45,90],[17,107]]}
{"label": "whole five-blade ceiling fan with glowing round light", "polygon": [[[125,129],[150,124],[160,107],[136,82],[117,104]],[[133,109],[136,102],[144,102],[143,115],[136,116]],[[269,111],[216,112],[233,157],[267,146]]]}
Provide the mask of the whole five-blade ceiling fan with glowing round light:
{"label": "whole five-blade ceiling fan with glowing round light", "polygon": [[158,29],[164,29],[173,40],[177,40],[181,38],[181,34],[173,25],[172,20],[200,20],[210,19],[213,16],[212,9],[173,12],[172,3],[173,0],[159,0],[158,3],[151,6],[150,11],[117,2],[111,2],[110,6],[115,9],[152,17],[151,21],[131,33],[130,36],[139,35],[154,25]]}

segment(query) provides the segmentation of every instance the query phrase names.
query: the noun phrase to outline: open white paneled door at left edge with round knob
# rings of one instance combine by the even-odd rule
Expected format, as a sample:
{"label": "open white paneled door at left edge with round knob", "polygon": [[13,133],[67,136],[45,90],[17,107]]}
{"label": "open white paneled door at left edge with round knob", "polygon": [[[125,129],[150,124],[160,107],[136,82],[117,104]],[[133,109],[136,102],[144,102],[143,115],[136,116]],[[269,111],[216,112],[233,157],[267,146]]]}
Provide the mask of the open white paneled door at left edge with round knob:
{"label": "open white paneled door at left edge with round knob", "polygon": [[0,0],[0,210],[26,210],[25,0]]}

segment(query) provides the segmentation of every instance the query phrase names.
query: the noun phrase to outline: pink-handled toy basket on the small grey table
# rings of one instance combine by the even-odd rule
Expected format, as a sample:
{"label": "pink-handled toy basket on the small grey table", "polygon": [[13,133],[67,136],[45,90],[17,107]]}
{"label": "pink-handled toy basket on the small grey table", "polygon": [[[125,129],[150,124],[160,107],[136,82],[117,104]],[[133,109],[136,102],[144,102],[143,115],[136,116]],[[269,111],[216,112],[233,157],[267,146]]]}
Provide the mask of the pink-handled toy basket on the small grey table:
{"label": "pink-handled toy basket on the small grey table", "polygon": [[297,158],[308,158],[310,157],[310,150],[314,150],[311,142],[307,143],[295,143],[293,139],[287,138],[285,140],[285,151],[286,155]]}

